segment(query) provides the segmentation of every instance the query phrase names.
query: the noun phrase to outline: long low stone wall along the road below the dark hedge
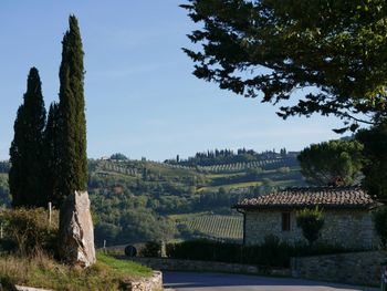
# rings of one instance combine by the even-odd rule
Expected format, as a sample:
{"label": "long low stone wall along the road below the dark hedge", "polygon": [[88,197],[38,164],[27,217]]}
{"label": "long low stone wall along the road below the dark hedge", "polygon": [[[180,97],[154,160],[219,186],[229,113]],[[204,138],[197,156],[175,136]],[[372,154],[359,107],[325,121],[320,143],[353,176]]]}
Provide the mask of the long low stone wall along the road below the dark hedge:
{"label": "long low stone wall along the road below the dark hedge", "polygon": [[161,271],[202,271],[202,272],[228,272],[228,273],[251,273],[251,274],[273,274],[290,276],[289,269],[268,270],[257,266],[212,262],[212,261],[195,261],[179,260],[168,258],[130,258],[130,260],[147,266],[155,270]]}

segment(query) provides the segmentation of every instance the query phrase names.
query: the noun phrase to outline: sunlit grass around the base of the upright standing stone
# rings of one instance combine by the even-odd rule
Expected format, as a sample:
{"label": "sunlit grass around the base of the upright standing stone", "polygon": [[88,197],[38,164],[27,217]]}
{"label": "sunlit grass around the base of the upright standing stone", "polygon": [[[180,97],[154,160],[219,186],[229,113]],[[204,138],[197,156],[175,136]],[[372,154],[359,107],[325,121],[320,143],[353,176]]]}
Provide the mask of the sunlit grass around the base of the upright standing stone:
{"label": "sunlit grass around the base of the upright standing stone", "polygon": [[122,290],[125,282],[150,274],[149,268],[101,252],[97,262],[85,270],[61,264],[43,254],[0,257],[0,282],[6,288],[20,284],[54,290]]}

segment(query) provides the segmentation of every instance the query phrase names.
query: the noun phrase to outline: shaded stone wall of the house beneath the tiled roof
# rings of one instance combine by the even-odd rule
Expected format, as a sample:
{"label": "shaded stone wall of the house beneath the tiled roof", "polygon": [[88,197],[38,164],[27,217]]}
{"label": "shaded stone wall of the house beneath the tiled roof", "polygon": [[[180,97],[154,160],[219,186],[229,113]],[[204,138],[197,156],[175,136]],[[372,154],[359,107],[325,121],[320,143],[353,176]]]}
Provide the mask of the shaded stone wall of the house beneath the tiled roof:
{"label": "shaded stone wall of the house beneath the tiled roof", "polygon": [[[354,249],[372,249],[378,246],[372,215],[366,210],[326,210],[321,242]],[[282,212],[279,210],[249,210],[245,212],[247,245],[262,243],[270,235],[283,241],[297,242],[305,240],[302,230],[296,226],[295,211],[290,211],[291,229],[282,230]]]}

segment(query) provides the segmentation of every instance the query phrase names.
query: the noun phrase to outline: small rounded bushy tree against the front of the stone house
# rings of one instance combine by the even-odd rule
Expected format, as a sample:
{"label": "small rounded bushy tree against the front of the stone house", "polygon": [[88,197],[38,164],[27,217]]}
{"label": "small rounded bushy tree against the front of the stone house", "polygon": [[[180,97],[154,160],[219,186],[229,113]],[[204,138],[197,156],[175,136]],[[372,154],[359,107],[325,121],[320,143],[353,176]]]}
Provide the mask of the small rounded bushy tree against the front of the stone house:
{"label": "small rounded bushy tree against the front of the stone house", "polygon": [[301,227],[302,235],[312,246],[320,237],[320,231],[324,226],[324,215],[318,207],[314,209],[305,208],[296,214],[297,227]]}

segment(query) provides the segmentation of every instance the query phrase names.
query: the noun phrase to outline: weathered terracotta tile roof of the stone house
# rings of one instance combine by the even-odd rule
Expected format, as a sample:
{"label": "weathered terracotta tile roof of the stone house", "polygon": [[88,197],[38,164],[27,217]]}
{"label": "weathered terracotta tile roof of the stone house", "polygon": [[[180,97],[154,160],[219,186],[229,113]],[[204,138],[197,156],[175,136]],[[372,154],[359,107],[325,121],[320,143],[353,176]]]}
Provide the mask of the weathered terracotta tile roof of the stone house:
{"label": "weathered terracotta tile roof of the stone house", "polygon": [[359,187],[287,188],[268,195],[244,199],[238,209],[284,209],[318,206],[321,208],[369,209],[377,202]]}

